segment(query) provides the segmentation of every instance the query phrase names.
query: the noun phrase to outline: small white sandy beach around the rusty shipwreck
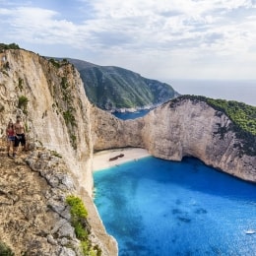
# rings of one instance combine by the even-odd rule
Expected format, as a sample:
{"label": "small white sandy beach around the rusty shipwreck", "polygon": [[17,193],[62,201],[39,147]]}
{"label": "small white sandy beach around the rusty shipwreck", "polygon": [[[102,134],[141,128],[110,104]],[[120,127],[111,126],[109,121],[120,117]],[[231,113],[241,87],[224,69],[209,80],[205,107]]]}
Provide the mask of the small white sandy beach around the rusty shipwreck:
{"label": "small white sandy beach around the rusty shipwreck", "polygon": [[[119,155],[124,155],[117,160],[109,160]],[[94,155],[93,170],[110,168],[112,166],[130,161],[139,160],[151,156],[147,150],[140,148],[127,148],[127,149],[115,149],[100,151]]]}

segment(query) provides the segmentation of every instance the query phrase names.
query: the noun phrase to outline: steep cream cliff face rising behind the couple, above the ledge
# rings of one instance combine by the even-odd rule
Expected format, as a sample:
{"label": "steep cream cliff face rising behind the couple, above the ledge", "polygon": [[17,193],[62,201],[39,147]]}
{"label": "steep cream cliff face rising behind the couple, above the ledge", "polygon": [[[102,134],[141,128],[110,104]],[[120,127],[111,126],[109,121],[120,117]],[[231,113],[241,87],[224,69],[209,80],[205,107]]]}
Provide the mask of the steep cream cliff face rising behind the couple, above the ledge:
{"label": "steep cream cliff face rising behind the couple, above the ledge", "polygon": [[[79,185],[92,194],[91,105],[79,73],[71,65],[55,68],[46,59],[25,50],[8,50],[0,54],[0,59],[3,56],[10,68],[4,69],[4,63],[1,63],[2,129],[10,118],[15,121],[16,114],[21,113],[17,110],[18,100],[20,96],[26,96],[29,99],[28,115],[23,116],[30,130],[30,143],[37,142],[60,153],[78,180],[83,180]],[[62,79],[68,85],[66,89],[63,89]],[[74,125],[66,125],[63,111],[72,112]],[[0,136],[3,135],[5,131],[2,130]],[[75,148],[72,138],[76,138]]]}

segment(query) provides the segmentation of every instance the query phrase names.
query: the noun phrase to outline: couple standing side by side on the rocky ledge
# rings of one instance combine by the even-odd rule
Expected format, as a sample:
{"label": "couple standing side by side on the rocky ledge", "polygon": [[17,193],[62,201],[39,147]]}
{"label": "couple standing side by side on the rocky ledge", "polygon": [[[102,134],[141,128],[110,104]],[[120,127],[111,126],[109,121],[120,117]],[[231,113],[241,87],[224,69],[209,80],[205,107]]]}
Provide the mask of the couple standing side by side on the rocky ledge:
{"label": "couple standing side by side on the rocky ledge", "polygon": [[16,117],[16,123],[14,124],[12,120],[9,121],[6,128],[7,136],[7,156],[10,156],[10,150],[13,148],[13,157],[16,157],[18,147],[22,144],[23,150],[26,150],[26,136],[25,136],[25,126],[22,122],[20,115]]}

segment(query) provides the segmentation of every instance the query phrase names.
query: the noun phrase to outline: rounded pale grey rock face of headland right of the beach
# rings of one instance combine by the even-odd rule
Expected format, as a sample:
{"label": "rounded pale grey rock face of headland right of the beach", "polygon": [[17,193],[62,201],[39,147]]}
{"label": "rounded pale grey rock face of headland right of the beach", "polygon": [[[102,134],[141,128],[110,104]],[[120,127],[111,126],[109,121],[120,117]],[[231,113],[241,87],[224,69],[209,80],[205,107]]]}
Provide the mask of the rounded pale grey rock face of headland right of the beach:
{"label": "rounded pale grey rock face of headland right of the beach", "polygon": [[[158,122],[159,121],[159,122]],[[145,117],[142,131],[145,147],[154,156],[165,160],[182,160],[192,156],[239,178],[256,182],[256,157],[240,157],[230,120],[206,102],[183,100],[167,103]]]}

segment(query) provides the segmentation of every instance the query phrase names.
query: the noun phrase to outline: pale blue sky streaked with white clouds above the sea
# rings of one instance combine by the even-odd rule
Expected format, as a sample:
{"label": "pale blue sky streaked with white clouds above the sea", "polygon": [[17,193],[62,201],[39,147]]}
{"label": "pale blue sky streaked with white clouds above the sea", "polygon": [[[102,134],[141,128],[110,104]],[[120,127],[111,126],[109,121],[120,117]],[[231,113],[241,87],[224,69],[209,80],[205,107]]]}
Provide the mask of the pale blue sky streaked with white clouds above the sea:
{"label": "pale blue sky streaked with white clouds above the sea", "polygon": [[256,79],[256,0],[0,0],[0,32],[161,81]]}

